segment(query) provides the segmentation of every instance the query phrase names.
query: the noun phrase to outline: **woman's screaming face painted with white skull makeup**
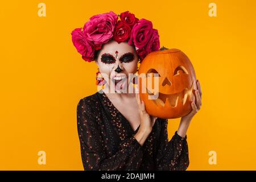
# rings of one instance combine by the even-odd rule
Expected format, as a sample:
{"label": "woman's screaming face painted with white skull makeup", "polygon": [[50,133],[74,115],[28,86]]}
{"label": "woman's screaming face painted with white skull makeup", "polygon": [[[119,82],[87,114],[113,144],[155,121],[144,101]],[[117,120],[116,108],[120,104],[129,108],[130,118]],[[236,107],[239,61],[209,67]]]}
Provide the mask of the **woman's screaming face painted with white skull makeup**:
{"label": "woman's screaming face painted with white skull makeup", "polygon": [[115,91],[118,92],[124,86],[129,86],[129,73],[137,72],[138,55],[127,42],[118,44],[111,40],[98,53],[96,64],[100,72],[104,73],[102,76],[105,80],[115,82]]}

